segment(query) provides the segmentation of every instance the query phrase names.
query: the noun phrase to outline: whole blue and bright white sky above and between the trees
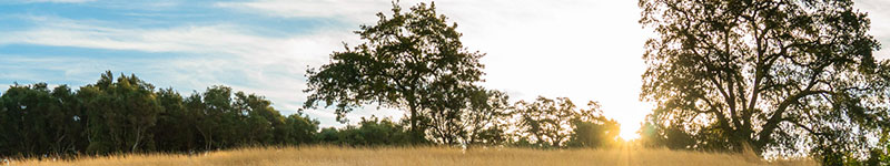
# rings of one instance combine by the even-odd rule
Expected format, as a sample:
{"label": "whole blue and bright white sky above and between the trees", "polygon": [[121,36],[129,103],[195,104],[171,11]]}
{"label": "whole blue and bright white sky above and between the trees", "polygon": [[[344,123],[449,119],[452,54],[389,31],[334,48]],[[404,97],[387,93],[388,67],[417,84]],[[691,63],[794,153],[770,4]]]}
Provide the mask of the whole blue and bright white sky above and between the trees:
{"label": "whole blue and bright white sky above and between the trees", "polygon": [[[652,107],[639,100],[652,32],[637,23],[635,0],[448,0],[436,8],[458,24],[465,46],[486,53],[482,85],[514,102],[597,101],[622,124],[622,137],[637,137]],[[890,1],[856,0],[856,8],[890,44]],[[388,0],[0,0],[0,93],[13,83],[82,86],[112,71],[184,94],[227,85],[293,114],[307,96],[306,69],[329,62],[344,42],[360,43],[353,31],[389,9]],[[890,58],[890,49],[877,55]],[[324,127],[345,125],[330,108],[304,113]],[[366,106],[347,117],[370,115],[404,113]]]}

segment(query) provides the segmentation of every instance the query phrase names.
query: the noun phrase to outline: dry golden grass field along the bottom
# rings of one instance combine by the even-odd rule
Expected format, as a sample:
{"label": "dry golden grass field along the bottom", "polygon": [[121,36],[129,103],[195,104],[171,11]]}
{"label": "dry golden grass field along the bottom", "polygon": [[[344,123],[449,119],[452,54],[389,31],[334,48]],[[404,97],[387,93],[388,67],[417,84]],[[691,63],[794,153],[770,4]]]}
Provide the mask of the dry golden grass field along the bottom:
{"label": "dry golden grass field along the bottom", "polygon": [[812,160],[765,162],[753,155],[709,154],[674,152],[668,149],[640,149],[632,147],[614,149],[540,151],[526,148],[342,148],[332,146],[288,148],[245,148],[214,152],[202,155],[118,155],[86,157],[70,162],[21,160],[7,165],[37,166],[279,166],[279,165],[663,165],[663,166],[720,166],[720,165],[818,165]]}

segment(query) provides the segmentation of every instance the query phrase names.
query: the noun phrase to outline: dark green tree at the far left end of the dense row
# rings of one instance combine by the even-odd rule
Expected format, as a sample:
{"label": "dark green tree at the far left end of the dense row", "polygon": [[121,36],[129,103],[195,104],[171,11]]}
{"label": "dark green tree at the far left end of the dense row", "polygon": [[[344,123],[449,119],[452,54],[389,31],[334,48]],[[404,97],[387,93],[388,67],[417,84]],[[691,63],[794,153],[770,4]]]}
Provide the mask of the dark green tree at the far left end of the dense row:
{"label": "dark green tree at the far left end of the dense row", "polygon": [[0,112],[0,155],[60,154],[73,148],[80,127],[76,115],[63,107],[71,102],[68,95],[67,86],[50,91],[46,83],[10,86],[0,96],[9,103]]}

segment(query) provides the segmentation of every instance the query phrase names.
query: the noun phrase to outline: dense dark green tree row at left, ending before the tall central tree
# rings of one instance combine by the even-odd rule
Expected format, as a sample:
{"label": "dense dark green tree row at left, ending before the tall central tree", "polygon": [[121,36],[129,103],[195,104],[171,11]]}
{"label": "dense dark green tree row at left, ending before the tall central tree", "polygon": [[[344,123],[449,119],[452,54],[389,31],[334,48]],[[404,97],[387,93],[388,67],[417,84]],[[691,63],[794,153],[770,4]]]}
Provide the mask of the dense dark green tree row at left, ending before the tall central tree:
{"label": "dense dark green tree row at left, ending before the tall central tree", "polygon": [[184,96],[136,75],[71,90],[12,85],[0,96],[0,155],[197,152],[313,143],[318,122],[263,96],[211,86]]}

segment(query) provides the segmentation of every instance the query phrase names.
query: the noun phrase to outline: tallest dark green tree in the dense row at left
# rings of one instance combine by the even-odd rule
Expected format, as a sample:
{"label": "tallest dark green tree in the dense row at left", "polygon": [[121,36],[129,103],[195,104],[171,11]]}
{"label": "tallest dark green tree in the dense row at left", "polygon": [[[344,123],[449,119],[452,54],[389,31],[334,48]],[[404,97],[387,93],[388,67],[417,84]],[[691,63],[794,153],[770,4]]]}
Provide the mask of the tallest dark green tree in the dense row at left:
{"label": "tallest dark green tree in the dense row at left", "polygon": [[139,152],[152,143],[149,128],[164,107],[155,96],[155,86],[136,75],[113,81],[111,72],[91,85],[81,87],[87,116],[88,152]]}

